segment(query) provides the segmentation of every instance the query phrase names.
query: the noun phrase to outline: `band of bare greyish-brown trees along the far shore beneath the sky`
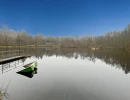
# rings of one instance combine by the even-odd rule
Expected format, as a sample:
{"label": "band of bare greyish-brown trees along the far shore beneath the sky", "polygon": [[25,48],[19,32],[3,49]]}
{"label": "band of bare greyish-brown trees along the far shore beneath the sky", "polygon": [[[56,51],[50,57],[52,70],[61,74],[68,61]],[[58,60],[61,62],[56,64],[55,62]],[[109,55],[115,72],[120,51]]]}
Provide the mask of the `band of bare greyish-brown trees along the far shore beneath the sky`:
{"label": "band of bare greyish-brown trees along the far shore beneath the sky", "polygon": [[31,35],[25,30],[16,32],[8,28],[0,30],[0,46],[45,46],[71,48],[130,48],[130,25],[123,31],[108,32],[102,36],[44,36],[43,34]]}

